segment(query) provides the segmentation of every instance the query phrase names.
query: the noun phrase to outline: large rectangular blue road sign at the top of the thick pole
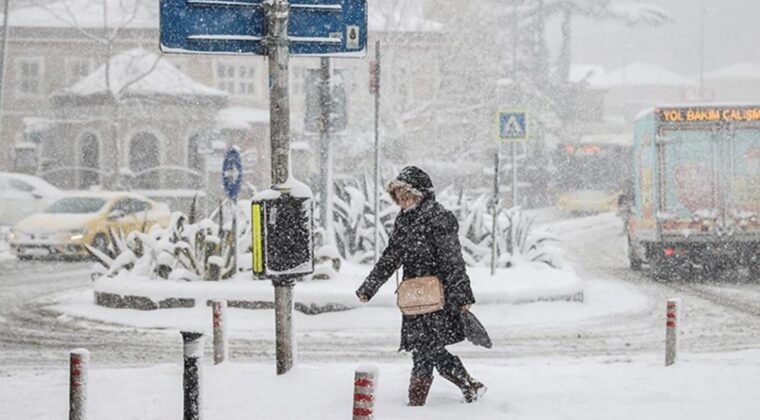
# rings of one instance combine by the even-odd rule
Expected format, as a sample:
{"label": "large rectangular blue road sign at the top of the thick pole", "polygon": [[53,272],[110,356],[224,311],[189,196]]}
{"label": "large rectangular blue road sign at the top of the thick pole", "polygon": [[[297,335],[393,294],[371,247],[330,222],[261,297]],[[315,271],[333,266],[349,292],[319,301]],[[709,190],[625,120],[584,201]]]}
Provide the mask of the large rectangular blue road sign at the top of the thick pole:
{"label": "large rectangular blue road sign at the top of the thick pole", "polygon": [[[161,51],[266,55],[266,0],[160,0]],[[367,0],[293,0],[291,55],[364,57]]]}

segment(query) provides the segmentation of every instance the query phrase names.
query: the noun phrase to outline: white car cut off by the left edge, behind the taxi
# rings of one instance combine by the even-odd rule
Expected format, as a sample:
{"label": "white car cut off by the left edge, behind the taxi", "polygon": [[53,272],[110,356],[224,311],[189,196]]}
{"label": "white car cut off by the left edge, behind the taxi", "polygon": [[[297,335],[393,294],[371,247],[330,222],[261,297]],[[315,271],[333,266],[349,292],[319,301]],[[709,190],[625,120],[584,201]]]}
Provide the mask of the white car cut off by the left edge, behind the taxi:
{"label": "white car cut off by the left edge, behind the taxi", "polygon": [[62,196],[63,191],[42,178],[0,172],[0,226],[11,226],[39,213]]}

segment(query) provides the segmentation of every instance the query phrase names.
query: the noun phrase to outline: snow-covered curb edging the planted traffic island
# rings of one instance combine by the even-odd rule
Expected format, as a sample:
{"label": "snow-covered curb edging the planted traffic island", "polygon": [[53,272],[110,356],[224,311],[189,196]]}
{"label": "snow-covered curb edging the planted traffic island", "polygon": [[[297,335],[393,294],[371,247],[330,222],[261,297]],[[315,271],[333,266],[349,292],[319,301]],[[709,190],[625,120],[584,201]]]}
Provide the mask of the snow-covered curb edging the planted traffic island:
{"label": "snow-covered curb edging the planted traffic island", "polygon": [[[352,309],[359,305],[354,291],[370,267],[344,264],[332,280],[308,280],[294,288],[295,308],[305,313]],[[536,301],[583,301],[583,282],[571,269],[557,270],[540,264],[524,264],[498,270],[494,277],[486,268],[468,270],[479,304]],[[395,306],[395,278],[391,278],[369,306]],[[225,299],[239,308],[270,308],[274,293],[269,281],[247,275],[219,282],[184,282],[121,275],[95,282],[95,302],[100,306],[130,309],[188,308]]]}

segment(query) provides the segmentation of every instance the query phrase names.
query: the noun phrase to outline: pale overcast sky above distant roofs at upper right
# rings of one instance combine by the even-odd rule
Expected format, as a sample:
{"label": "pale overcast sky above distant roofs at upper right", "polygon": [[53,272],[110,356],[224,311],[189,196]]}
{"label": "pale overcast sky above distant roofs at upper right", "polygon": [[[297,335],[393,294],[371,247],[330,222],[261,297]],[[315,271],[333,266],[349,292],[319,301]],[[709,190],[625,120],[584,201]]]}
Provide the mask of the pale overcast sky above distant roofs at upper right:
{"label": "pale overcast sky above distant roofs at upper right", "polygon": [[740,61],[760,64],[760,1],[647,0],[670,12],[674,22],[661,27],[578,20],[574,25],[574,63],[612,70],[624,62],[663,65],[687,77],[699,75],[700,15],[704,24],[705,71]]}

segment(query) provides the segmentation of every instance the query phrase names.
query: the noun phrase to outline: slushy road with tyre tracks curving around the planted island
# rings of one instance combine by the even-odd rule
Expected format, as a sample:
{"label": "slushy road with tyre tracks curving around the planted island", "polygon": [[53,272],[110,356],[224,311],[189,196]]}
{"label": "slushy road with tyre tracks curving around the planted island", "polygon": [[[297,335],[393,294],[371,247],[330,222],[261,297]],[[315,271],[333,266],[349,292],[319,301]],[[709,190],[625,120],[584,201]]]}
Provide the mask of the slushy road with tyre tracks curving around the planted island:
{"label": "slushy road with tyre tracks curving around the planted island", "polygon": [[[551,229],[562,239],[568,260],[589,279],[587,300],[598,304],[623,290],[630,291],[631,296],[643,295],[644,303],[635,305],[634,310],[610,310],[613,315],[554,323],[530,320],[538,318],[541,311],[561,311],[562,305],[571,303],[523,305],[520,311],[506,313],[496,305],[481,305],[477,307],[481,318],[518,314],[526,319],[511,323],[509,328],[493,329],[493,349],[464,344],[456,348],[458,354],[495,361],[541,356],[626,358],[658,353],[663,347],[665,302],[669,297],[683,300],[682,349],[712,352],[758,347],[759,282],[651,282],[646,275],[627,268],[622,226],[611,214],[552,222]],[[152,365],[181,358],[175,330],[94,322],[52,310],[51,303],[61,294],[81,293],[91,287],[88,268],[89,263],[0,263],[0,374],[3,370],[64,366],[68,351],[75,347],[97,353],[96,365]],[[610,305],[618,304],[615,299],[609,300]],[[234,360],[274,359],[270,335],[245,332],[231,338]],[[304,361],[393,361],[407,357],[396,352],[396,328],[364,332],[297,329],[297,342],[299,358]]]}

